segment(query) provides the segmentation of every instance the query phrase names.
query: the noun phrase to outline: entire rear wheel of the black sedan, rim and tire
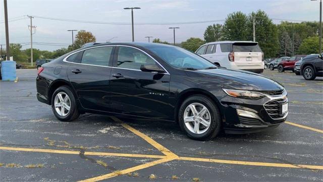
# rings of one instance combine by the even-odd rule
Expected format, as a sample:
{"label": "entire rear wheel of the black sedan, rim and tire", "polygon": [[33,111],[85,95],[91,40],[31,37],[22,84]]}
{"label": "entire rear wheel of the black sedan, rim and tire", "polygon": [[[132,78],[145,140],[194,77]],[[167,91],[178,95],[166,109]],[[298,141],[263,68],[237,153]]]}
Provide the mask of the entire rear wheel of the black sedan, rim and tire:
{"label": "entire rear wheel of the black sedan, rim and tire", "polygon": [[61,121],[73,121],[79,117],[76,99],[67,86],[55,90],[51,97],[51,110]]}

